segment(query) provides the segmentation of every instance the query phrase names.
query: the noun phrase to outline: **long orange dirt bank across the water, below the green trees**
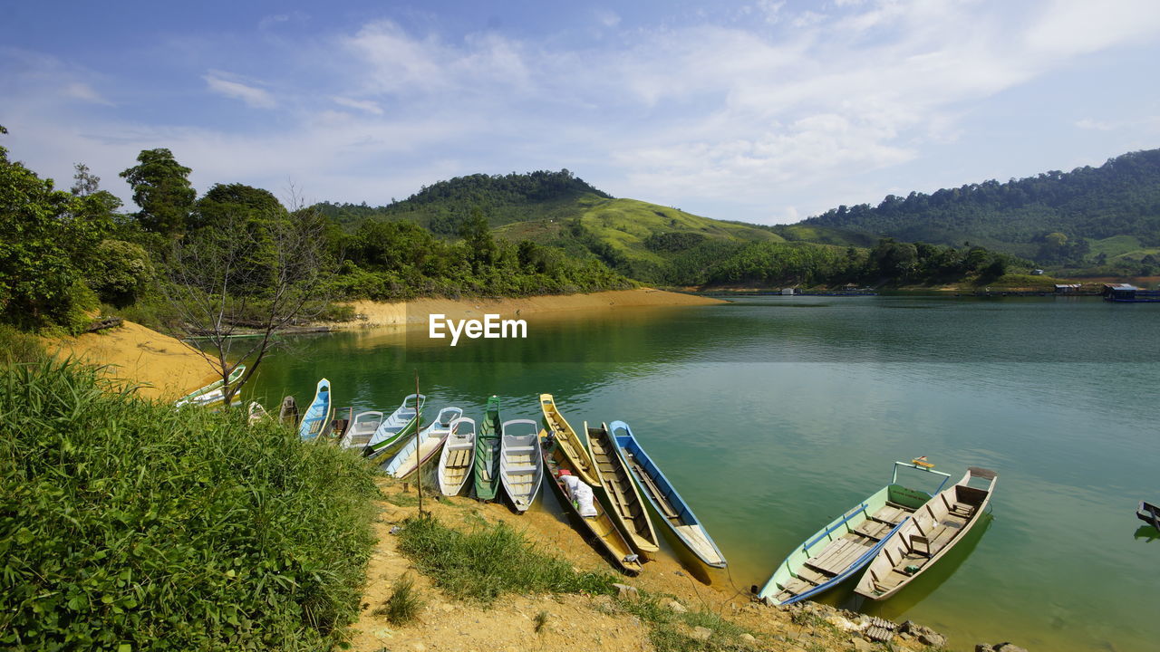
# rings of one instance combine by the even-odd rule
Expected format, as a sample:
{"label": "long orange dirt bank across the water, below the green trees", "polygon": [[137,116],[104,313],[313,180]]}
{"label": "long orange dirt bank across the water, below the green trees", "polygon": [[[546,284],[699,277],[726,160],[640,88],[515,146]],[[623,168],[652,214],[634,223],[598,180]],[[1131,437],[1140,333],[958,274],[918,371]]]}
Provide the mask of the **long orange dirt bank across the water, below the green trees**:
{"label": "long orange dirt bank across the water, below the green trees", "polygon": [[354,321],[336,325],[347,328],[365,328],[376,326],[405,326],[427,323],[427,316],[442,313],[448,319],[478,318],[484,313],[514,317],[531,312],[565,312],[577,310],[607,310],[630,306],[664,305],[709,305],[724,303],[720,299],[666,292],[651,288],[635,290],[614,290],[594,292],[592,295],[551,295],[524,298],[462,298],[442,299],[425,298],[404,303],[382,303],[371,300],[351,302],[358,318]]}

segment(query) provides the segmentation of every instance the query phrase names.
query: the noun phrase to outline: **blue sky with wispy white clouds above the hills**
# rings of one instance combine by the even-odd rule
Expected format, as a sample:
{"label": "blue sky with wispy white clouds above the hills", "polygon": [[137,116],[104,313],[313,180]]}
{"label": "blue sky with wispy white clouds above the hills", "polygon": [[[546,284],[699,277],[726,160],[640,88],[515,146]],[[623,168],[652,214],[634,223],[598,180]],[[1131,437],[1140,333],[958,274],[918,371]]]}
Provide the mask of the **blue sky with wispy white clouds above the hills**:
{"label": "blue sky with wispy white clouds above the hills", "polygon": [[126,204],[168,147],[200,193],[567,168],[775,224],[1160,147],[1155,0],[6,5],[0,144]]}

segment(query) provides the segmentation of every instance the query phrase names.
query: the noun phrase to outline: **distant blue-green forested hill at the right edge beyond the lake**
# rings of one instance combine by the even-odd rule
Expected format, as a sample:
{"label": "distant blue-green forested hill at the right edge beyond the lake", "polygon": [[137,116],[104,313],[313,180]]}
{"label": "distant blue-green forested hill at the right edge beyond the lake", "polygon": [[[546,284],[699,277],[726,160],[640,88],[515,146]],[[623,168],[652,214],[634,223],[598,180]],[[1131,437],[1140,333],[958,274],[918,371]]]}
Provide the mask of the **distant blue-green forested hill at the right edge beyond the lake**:
{"label": "distant blue-green forested hill at the right edge beyond the lake", "polygon": [[889,195],[877,207],[843,205],[803,224],[906,241],[970,241],[1043,265],[1102,265],[1108,254],[1140,260],[1160,246],[1160,150],[1006,183]]}

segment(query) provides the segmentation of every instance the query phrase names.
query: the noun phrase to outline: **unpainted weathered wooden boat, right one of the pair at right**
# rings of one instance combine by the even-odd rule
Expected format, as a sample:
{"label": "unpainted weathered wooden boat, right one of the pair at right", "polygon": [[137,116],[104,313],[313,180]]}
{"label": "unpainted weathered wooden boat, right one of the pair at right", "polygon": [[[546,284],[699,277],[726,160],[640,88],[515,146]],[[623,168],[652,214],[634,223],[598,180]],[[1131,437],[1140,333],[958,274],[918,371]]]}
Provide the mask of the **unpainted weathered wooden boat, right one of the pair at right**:
{"label": "unpainted weathered wooden boat, right one of the pair at right", "polygon": [[[986,488],[970,486],[972,479],[986,481]],[[994,471],[969,466],[963,479],[935,494],[883,542],[855,593],[885,600],[934,566],[979,522],[996,479]]]}

